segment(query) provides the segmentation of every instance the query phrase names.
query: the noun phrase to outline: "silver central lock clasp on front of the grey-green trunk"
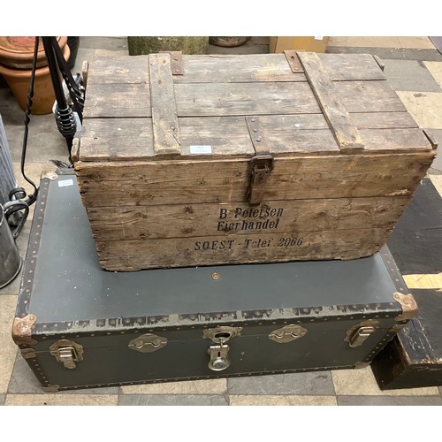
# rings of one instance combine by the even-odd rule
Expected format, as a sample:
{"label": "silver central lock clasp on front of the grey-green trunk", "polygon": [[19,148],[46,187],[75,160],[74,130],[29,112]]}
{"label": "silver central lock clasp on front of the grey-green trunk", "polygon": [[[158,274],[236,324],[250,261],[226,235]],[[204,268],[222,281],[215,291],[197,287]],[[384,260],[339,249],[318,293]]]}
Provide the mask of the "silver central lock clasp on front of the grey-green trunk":
{"label": "silver central lock clasp on front of the grey-green trunk", "polygon": [[213,329],[202,331],[204,339],[211,339],[216,346],[210,346],[207,353],[210,355],[210,361],[207,366],[212,371],[222,371],[230,366],[228,358],[229,346],[225,344],[229,339],[240,336],[242,327],[218,326]]}

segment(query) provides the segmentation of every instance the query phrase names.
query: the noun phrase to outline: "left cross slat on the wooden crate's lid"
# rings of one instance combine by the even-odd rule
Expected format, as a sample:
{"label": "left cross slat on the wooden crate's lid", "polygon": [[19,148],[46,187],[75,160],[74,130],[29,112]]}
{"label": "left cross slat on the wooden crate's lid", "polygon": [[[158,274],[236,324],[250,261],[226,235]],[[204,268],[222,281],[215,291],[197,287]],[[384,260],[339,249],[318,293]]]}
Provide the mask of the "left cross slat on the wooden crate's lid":
{"label": "left cross slat on the wooden crate's lid", "polygon": [[155,155],[179,155],[179,124],[170,54],[149,56],[149,77]]}

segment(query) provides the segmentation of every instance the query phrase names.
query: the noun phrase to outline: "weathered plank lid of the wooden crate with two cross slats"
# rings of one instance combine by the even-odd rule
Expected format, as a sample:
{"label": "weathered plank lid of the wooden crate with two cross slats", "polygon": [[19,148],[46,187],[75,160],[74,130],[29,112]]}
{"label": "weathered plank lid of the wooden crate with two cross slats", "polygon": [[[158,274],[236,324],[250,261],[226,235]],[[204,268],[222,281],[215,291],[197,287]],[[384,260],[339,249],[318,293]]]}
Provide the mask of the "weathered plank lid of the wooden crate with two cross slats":
{"label": "weathered plank lid of the wooden crate with two cross slats", "polygon": [[431,143],[368,54],[100,57],[81,161],[400,153]]}

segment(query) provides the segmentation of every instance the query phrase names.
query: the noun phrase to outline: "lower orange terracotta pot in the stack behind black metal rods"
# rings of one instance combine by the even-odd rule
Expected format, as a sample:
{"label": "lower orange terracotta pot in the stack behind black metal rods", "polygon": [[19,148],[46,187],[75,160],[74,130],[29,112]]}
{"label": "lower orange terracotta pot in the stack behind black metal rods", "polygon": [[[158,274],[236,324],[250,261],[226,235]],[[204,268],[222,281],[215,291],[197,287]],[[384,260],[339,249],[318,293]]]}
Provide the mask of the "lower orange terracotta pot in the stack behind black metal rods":
{"label": "lower orange terracotta pot in the stack behind black metal rods", "polygon": [[[63,55],[65,60],[69,59],[71,51],[65,45]],[[31,70],[11,69],[0,65],[0,74],[11,88],[12,94],[17,99],[22,110],[27,109],[27,94],[31,80]],[[50,80],[50,68],[48,66],[35,70],[34,98],[31,113],[34,115],[45,115],[52,111],[55,102],[55,92]]]}

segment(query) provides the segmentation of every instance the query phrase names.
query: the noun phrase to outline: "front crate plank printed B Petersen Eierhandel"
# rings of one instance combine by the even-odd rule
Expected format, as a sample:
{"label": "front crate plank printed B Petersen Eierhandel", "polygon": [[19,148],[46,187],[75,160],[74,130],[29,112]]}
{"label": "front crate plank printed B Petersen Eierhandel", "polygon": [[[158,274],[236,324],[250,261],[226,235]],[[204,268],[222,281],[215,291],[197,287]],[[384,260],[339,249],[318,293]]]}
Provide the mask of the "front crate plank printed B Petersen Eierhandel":
{"label": "front crate plank printed B Petersen Eierhandel", "polygon": [[392,229],[409,196],[97,207],[88,210],[95,240],[191,238],[274,232]]}

